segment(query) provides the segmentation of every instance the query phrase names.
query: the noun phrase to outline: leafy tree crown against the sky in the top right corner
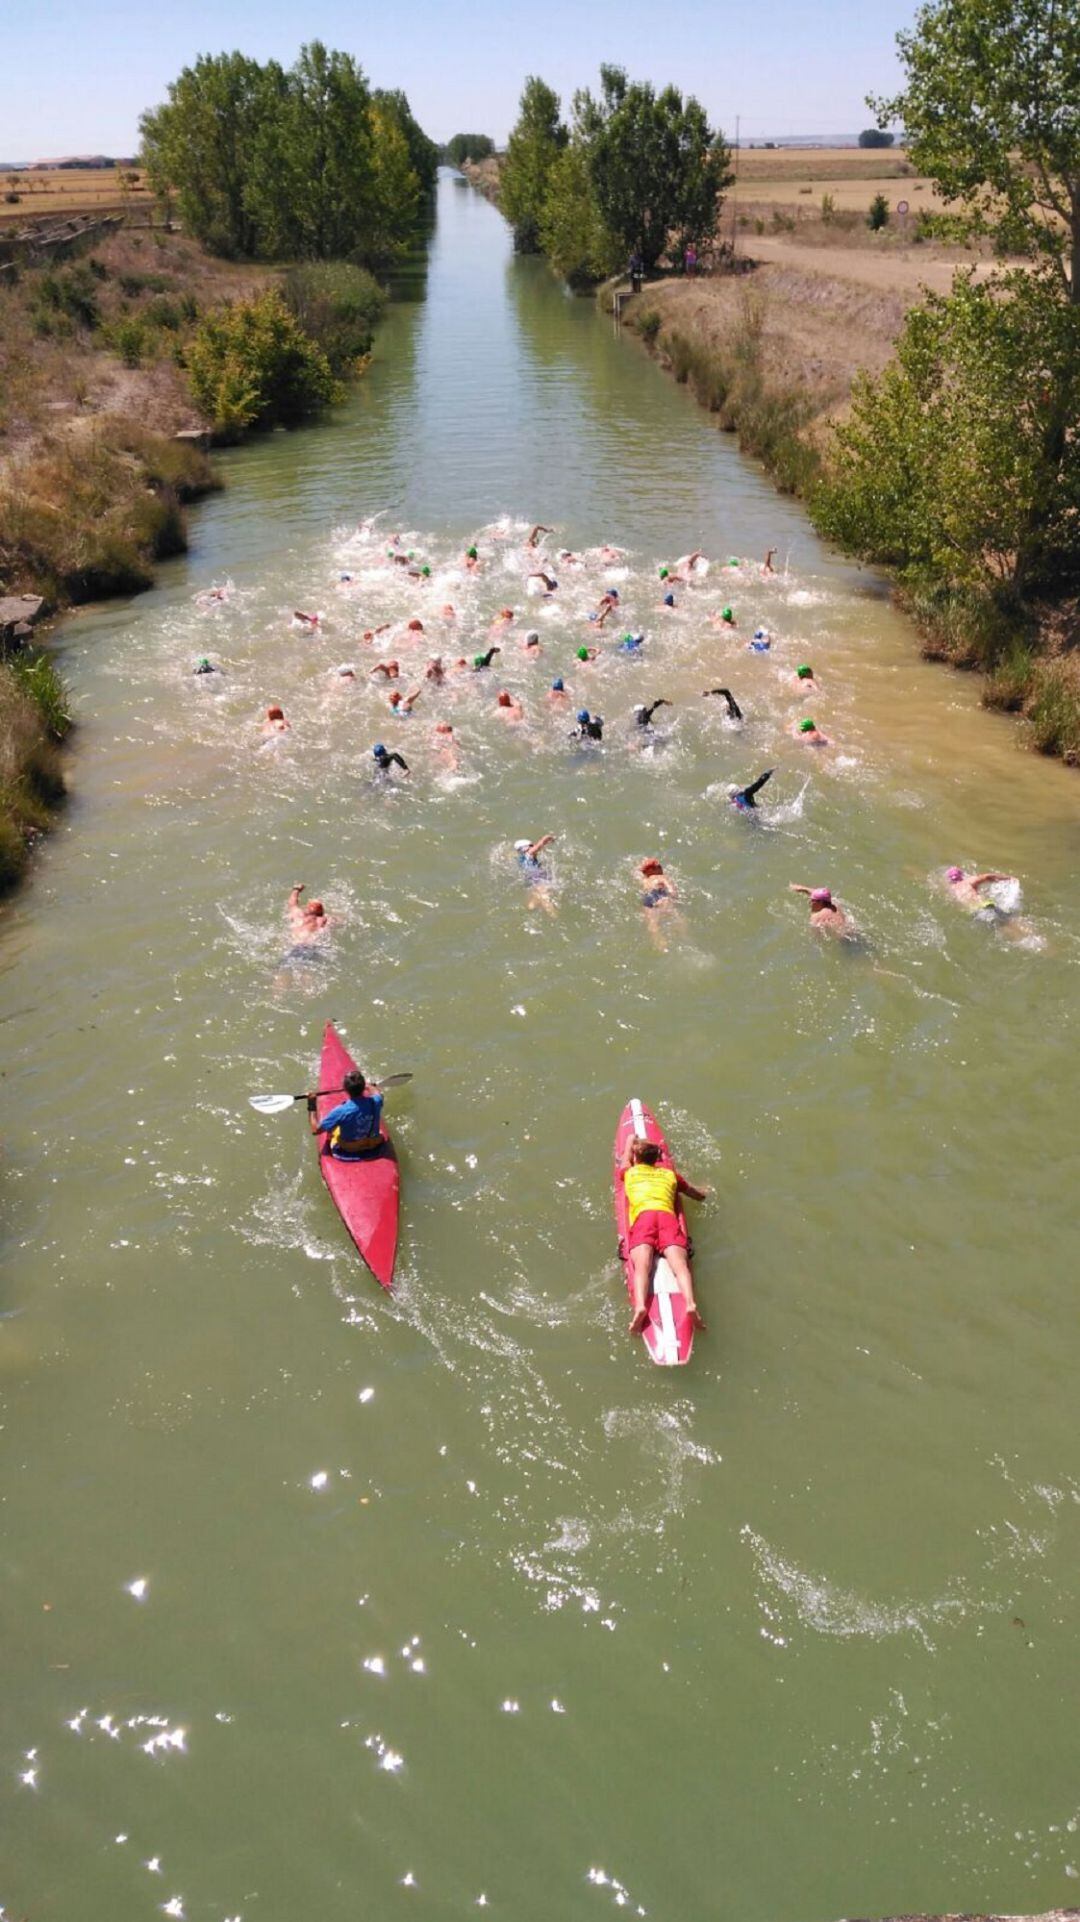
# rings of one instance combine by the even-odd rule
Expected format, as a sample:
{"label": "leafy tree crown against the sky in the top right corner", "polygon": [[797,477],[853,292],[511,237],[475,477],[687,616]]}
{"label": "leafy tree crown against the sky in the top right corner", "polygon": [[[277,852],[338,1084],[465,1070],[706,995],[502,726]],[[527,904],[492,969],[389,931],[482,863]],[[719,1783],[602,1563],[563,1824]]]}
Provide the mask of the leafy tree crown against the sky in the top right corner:
{"label": "leafy tree crown against the sky in the top right corner", "polygon": [[1059,0],[930,0],[897,35],[907,85],[871,98],[970,231],[1005,227],[1080,304],[1080,10]]}

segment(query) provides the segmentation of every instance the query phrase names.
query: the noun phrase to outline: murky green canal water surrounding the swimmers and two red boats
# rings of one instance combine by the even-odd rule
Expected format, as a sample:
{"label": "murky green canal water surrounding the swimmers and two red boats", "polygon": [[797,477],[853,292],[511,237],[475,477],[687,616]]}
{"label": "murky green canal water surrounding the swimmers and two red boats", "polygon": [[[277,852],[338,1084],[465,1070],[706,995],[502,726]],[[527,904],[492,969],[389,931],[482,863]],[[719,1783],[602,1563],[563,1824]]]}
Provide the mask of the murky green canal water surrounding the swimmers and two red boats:
{"label": "murky green canal water surrounding the swimmers and two red boats", "polygon": [[[1076,1901],[1076,776],[452,177],[407,296],[348,407],[233,456],[156,592],[60,636],[73,800],[0,948],[2,1912]],[[502,605],[494,671],[396,721],[373,659],[471,657]],[[765,767],[755,825],[724,788]],[[511,853],[544,832],[553,913]],[[655,851],[680,903],[650,928]],[[1015,873],[1019,919],[959,913],[951,861]],[[306,967],[300,878],[336,917]],[[415,1074],[392,1297],[302,1111],[246,1105],[313,1082],[327,1017]],[[682,1370],[626,1340],[632,1094],[713,1190]]]}

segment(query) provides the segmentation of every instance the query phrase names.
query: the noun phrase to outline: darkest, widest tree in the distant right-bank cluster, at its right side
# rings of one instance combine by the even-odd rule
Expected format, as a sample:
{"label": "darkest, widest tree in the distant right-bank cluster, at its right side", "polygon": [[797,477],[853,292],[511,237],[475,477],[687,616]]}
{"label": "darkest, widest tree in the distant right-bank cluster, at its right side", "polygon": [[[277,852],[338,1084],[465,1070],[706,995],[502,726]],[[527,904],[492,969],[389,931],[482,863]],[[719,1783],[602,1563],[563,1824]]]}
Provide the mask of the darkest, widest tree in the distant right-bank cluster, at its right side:
{"label": "darkest, widest tree in the distant right-bank cluster, at its right side", "polygon": [[625,252],[655,267],[669,244],[700,246],[717,229],[730,152],[694,96],[630,83],[623,67],[600,69],[600,100],[575,94],[575,131],[603,225]]}

